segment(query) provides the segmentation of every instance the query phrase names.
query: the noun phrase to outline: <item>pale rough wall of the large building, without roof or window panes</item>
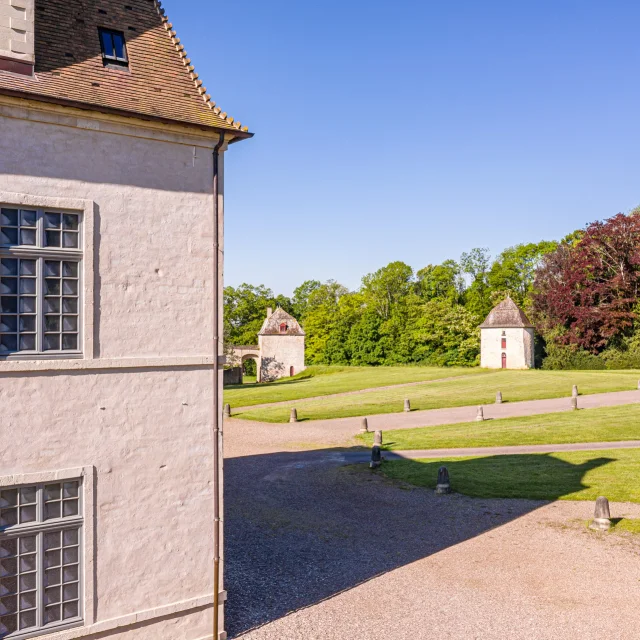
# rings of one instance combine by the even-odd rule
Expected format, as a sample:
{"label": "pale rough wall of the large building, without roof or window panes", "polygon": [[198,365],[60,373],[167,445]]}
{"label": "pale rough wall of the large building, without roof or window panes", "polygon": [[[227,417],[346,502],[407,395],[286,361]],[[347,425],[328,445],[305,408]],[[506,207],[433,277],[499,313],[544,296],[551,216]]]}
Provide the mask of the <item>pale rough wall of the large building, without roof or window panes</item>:
{"label": "pale rough wall of the large building, without roof or window panes", "polygon": [[0,204],[85,218],[81,357],[0,360],[0,485],[84,481],[83,623],[43,637],[211,638],[217,142],[0,96]]}

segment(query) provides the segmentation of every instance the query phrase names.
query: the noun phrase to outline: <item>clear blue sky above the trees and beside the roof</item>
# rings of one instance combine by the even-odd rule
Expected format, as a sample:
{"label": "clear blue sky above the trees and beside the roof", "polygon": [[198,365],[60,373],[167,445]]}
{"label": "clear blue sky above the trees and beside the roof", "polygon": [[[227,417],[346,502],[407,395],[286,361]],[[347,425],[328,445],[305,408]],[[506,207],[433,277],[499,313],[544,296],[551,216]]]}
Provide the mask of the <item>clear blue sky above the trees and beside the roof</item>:
{"label": "clear blue sky above the trees and beside the roof", "polygon": [[226,156],[226,283],[355,288],[640,203],[640,5],[166,0]]}

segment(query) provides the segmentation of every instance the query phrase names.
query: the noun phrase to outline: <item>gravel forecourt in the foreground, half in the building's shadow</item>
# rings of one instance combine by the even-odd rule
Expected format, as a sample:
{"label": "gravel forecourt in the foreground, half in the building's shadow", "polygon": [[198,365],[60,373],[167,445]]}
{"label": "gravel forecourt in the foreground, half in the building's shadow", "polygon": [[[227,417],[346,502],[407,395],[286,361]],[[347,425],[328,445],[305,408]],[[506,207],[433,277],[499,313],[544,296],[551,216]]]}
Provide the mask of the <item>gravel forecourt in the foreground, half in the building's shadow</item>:
{"label": "gravel forecourt in the foreground, half in the building's shadow", "polygon": [[637,637],[640,542],[586,529],[592,503],[436,496],[345,461],[225,460],[230,638]]}

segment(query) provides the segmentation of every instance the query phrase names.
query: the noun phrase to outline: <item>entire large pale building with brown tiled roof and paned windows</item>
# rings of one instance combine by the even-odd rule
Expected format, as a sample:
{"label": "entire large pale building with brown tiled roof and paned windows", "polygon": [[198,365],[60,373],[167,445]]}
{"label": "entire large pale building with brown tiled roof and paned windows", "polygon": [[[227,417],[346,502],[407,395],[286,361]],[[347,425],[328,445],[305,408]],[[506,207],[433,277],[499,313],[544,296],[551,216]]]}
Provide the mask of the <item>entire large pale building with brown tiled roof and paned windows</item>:
{"label": "entire large pale building with brown tiled roof and paned windows", "polygon": [[0,0],[3,640],[225,637],[224,157],[250,136],[158,0]]}

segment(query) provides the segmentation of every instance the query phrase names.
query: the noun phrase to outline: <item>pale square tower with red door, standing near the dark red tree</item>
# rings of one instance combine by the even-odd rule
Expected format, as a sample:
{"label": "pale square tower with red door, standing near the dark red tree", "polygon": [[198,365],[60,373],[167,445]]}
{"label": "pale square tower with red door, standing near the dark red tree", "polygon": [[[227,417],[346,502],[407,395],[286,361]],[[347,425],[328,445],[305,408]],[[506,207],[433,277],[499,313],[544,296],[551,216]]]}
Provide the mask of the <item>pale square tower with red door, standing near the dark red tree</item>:
{"label": "pale square tower with red door, standing near the dark red tree", "polygon": [[496,305],[480,325],[480,366],[487,369],[532,369],[534,327],[509,297]]}

